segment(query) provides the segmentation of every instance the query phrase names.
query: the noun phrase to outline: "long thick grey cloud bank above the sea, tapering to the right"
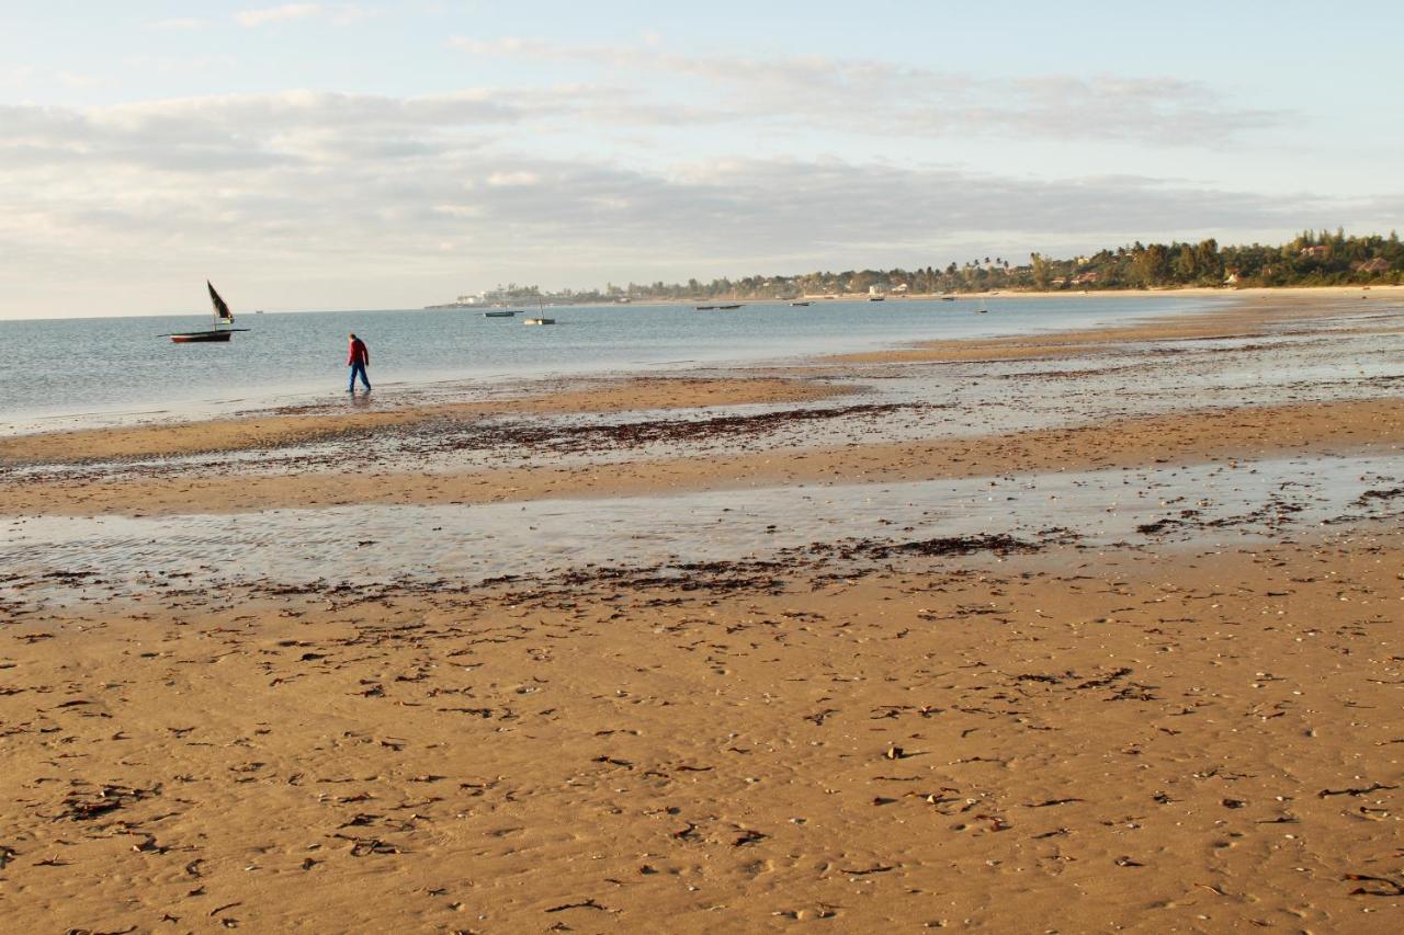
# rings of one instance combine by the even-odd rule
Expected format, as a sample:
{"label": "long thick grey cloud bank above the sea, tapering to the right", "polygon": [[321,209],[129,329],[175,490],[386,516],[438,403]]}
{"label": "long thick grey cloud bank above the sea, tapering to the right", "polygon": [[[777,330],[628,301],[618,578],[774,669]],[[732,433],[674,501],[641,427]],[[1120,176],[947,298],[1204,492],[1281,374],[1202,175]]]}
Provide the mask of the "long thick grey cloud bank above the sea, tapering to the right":
{"label": "long thick grey cloud bank above the sea, tapering to the right", "polygon": [[626,167],[532,156],[524,140],[491,135],[539,107],[477,91],[8,107],[0,197],[15,208],[14,232],[55,246],[142,251],[153,236],[180,236],[330,264],[345,248],[413,256],[480,239],[497,261],[629,256],[680,271],[706,257],[750,268],[908,256],[960,237],[1294,229],[1341,208],[1132,175],[1039,180],[813,159]]}

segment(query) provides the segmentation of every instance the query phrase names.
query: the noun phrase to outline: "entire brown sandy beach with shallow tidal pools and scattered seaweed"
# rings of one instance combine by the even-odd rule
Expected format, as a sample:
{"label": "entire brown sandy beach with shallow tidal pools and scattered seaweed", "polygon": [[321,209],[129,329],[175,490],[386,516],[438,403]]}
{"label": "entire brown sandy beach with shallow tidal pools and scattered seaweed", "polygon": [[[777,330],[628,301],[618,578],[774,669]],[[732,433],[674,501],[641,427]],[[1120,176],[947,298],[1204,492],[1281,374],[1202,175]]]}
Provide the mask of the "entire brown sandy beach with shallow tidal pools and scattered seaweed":
{"label": "entire brown sandy beach with shallow tidal pools and scattered seaweed", "polygon": [[1404,302],[1241,299],[0,439],[0,918],[1398,931]]}

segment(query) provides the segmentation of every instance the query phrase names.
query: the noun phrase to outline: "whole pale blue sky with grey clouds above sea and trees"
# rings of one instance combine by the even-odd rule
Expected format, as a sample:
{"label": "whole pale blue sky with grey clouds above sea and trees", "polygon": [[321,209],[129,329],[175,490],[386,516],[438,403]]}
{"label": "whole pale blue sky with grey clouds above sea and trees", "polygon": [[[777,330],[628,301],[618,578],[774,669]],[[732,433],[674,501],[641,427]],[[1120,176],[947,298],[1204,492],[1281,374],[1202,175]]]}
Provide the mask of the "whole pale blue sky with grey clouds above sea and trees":
{"label": "whole pale blue sky with grey clouds above sea and trees", "polygon": [[0,319],[1387,233],[1404,4],[0,0]]}

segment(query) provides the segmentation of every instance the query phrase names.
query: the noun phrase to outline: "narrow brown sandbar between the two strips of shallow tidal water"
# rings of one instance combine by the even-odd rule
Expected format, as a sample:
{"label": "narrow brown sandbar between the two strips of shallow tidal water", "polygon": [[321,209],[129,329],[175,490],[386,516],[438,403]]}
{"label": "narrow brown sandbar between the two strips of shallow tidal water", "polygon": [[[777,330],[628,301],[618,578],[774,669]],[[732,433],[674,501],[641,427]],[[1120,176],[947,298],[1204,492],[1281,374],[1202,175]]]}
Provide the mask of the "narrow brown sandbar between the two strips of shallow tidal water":
{"label": "narrow brown sandbar between the two strips of shallow tidal water", "polygon": [[[1309,403],[1132,418],[981,438],[842,448],[737,451],[724,458],[639,459],[469,473],[380,470],[251,476],[81,475],[0,487],[0,514],[232,514],[348,504],[475,504],[545,497],[639,497],[678,490],[834,482],[908,482],[1008,473],[1202,463],[1287,452],[1398,451],[1397,400]],[[347,460],[355,465],[355,455]]]}

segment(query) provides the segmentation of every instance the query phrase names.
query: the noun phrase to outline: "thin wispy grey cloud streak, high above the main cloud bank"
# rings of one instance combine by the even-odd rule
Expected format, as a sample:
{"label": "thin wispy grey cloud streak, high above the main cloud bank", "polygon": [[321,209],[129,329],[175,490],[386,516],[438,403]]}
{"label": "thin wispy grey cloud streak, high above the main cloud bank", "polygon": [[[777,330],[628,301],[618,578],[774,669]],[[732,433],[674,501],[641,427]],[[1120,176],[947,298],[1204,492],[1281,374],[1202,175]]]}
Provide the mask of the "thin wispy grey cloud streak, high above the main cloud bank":
{"label": "thin wispy grey cloud streak, high above the main cloud bank", "polygon": [[[701,97],[702,110],[736,122],[828,132],[974,132],[1205,146],[1287,119],[1279,111],[1234,107],[1207,84],[1170,77],[984,77],[831,56],[680,55],[657,42],[573,45],[453,37],[449,44],[475,56],[570,63],[632,76],[651,72],[689,83],[657,90],[671,94],[658,101],[660,110]],[[657,81],[650,84],[658,88]]]}

